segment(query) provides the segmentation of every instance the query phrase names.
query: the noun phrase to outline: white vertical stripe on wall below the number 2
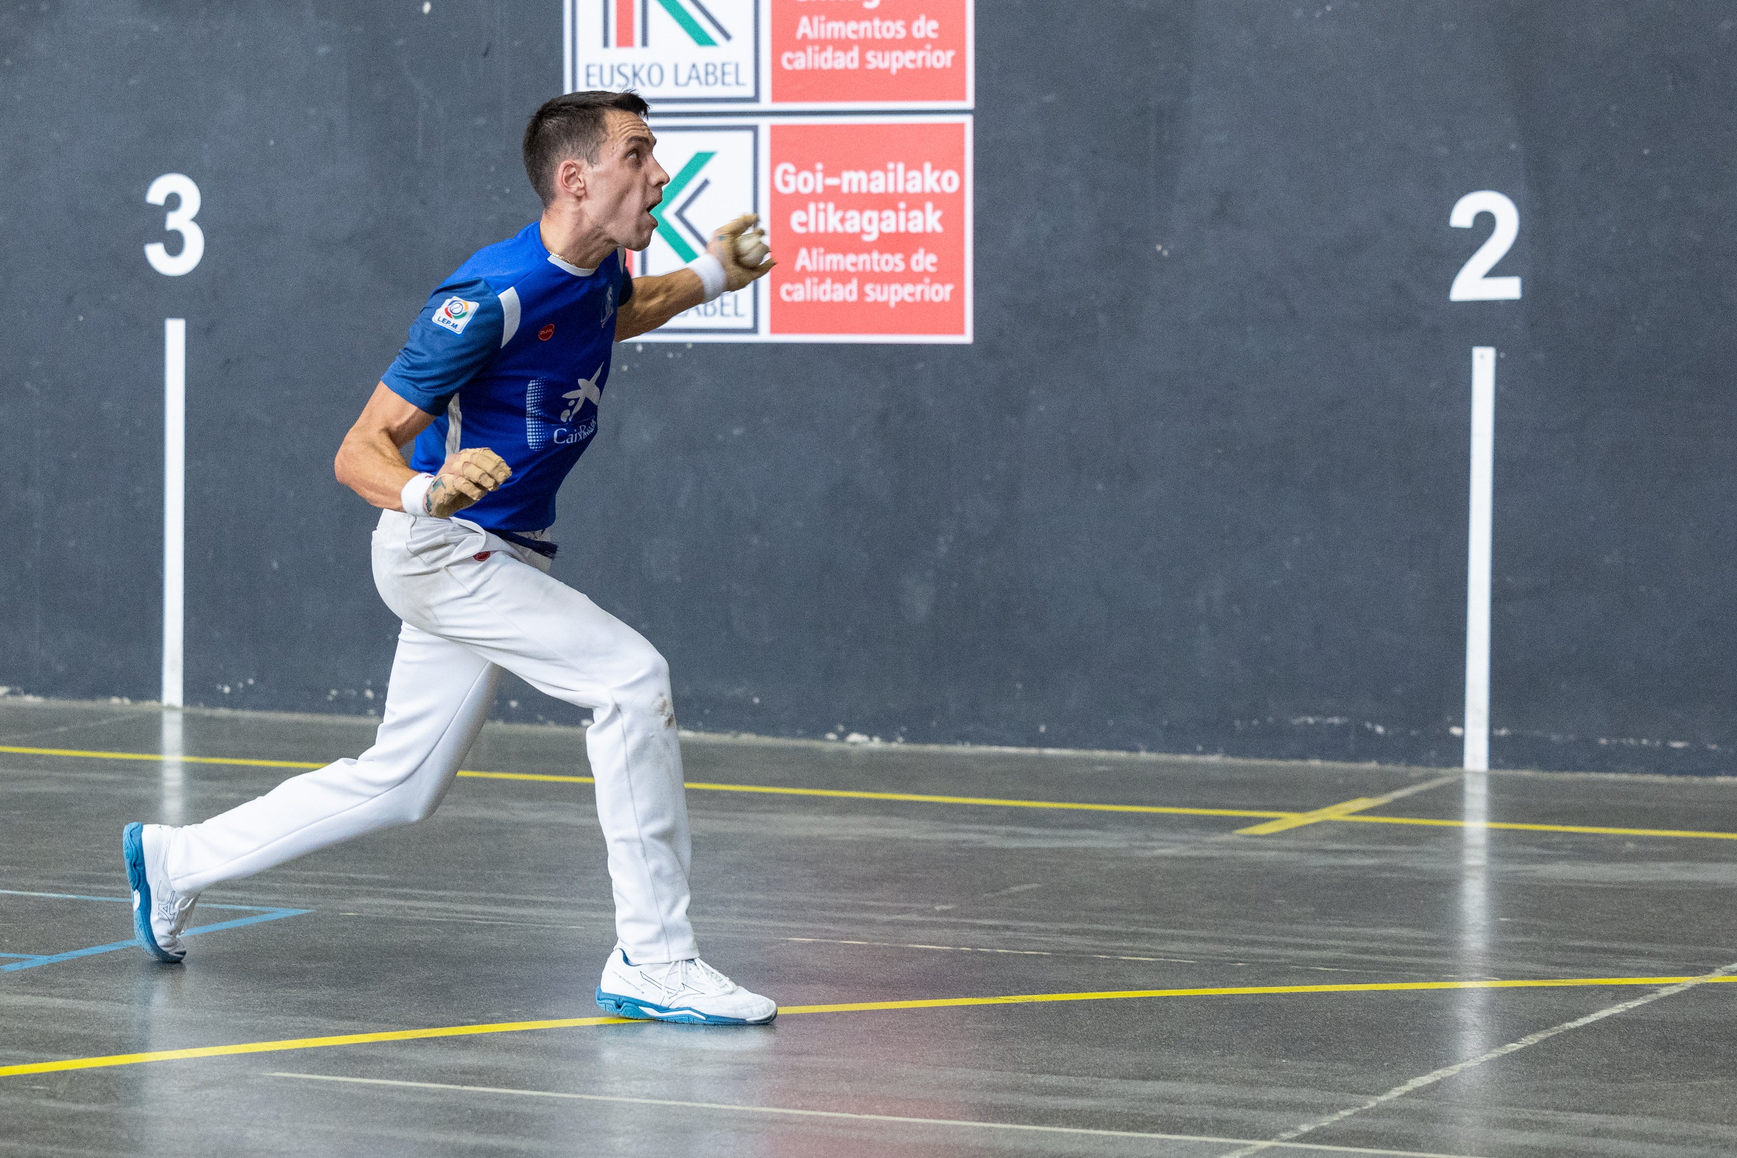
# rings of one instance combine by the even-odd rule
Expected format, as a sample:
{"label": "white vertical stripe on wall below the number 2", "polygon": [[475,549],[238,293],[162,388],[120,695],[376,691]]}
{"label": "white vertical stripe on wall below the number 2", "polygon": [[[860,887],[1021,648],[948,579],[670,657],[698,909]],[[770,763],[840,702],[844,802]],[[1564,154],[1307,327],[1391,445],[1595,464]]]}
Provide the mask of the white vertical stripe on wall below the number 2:
{"label": "white vertical stripe on wall below the number 2", "polygon": [[1490,538],[1496,347],[1471,347],[1471,530],[1466,542],[1466,769],[1490,767]]}

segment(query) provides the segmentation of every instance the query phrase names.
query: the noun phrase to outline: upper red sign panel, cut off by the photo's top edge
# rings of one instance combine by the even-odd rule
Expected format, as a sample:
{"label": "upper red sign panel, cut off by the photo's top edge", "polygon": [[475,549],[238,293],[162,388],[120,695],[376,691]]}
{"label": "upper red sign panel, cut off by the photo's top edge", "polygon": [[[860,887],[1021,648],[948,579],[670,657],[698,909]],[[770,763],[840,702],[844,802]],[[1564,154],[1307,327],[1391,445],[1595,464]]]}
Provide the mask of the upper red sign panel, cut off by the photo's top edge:
{"label": "upper red sign panel, cut off by the photo's top edge", "polygon": [[971,0],[769,0],[773,104],[971,102]]}

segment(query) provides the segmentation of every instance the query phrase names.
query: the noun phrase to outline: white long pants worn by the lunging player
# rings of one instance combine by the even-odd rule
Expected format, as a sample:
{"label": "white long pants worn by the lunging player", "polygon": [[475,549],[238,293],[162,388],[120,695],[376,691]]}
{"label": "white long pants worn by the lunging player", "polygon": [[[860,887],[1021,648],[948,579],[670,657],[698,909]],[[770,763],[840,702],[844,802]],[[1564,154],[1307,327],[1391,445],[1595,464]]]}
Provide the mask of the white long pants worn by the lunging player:
{"label": "white long pants worn by the lunging player", "polygon": [[373,531],[373,582],[405,627],[373,747],[172,830],[170,885],[200,892],[427,818],[483,727],[505,668],[592,712],[585,753],[622,948],[634,962],[698,957],[669,665],[639,632],[547,569],[542,556],[462,519],[384,512]]}

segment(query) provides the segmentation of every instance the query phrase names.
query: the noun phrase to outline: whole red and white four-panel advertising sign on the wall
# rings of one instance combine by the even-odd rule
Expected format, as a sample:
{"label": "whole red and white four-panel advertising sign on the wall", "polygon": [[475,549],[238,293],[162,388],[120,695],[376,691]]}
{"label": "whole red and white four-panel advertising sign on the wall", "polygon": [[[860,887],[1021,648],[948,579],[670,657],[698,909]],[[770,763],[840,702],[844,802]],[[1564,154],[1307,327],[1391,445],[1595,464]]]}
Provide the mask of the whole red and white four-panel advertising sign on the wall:
{"label": "whole red and white four-panel advertising sign on the wall", "polygon": [[974,0],[565,10],[568,90],[639,92],[670,174],[634,273],[679,269],[738,214],[778,257],[636,340],[971,340]]}

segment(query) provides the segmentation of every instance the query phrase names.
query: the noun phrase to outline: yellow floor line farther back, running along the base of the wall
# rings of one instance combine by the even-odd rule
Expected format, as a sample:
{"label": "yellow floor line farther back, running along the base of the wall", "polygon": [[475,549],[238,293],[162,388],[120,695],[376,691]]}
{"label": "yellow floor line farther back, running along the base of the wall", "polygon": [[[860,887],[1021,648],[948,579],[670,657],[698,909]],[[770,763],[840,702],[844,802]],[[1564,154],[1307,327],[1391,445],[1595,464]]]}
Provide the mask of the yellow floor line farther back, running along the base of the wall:
{"label": "yellow floor line farther back, running along the base of the wall", "polygon": [[[182,755],[182,757],[165,757],[155,752],[85,752],[78,748],[14,748],[0,745],[0,752],[14,752],[19,755],[63,755],[78,757],[87,760],[170,760],[179,759],[184,764],[236,764],[245,767],[325,767],[311,760],[250,760],[241,757],[219,757],[219,755]],[[591,776],[551,776],[540,773],[459,773],[460,776],[472,776],[478,780],[540,780],[549,783],[565,785],[589,785],[594,783]],[[1317,821],[1344,821],[1344,823],[1367,823],[1367,825],[1421,825],[1431,828],[1464,828],[1463,819],[1433,819],[1424,816],[1369,816],[1365,813],[1350,813],[1350,806],[1362,804],[1365,797],[1357,800],[1346,800],[1343,804],[1332,804],[1325,809],[1315,809],[1313,813],[1289,813],[1278,809],[1207,809],[1207,807],[1171,807],[1159,804],[1080,804],[1070,800],[1004,800],[995,797],[941,797],[941,795],[921,795],[915,792],[848,792],[842,788],[780,788],[768,785],[712,785],[690,781],[688,788],[695,792],[759,792],[768,795],[787,795],[787,797],[839,797],[848,800],[910,800],[915,804],[974,804],[983,807],[1020,807],[1020,809],[1063,809],[1063,811],[1084,811],[1084,813],[1146,813],[1157,816],[1252,816],[1273,821],[1285,821],[1282,828],[1294,828],[1298,825],[1313,825]],[[1403,792],[1403,790],[1402,790]],[[1391,795],[1391,793],[1390,793]],[[1364,807],[1374,807],[1374,804],[1383,804],[1386,797],[1374,797],[1370,804]],[[1254,825],[1252,828],[1244,828],[1240,832],[1254,835],[1256,830],[1280,832],[1282,828],[1268,828],[1266,825]],[[1706,832],[1699,828],[1607,828],[1596,825],[1529,825],[1522,821],[1487,821],[1483,828],[1508,828],[1515,832],[1572,832],[1572,833],[1591,833],[1603,837],[1701,837],[1711,840],[1737,840],[1737,832]]]}

